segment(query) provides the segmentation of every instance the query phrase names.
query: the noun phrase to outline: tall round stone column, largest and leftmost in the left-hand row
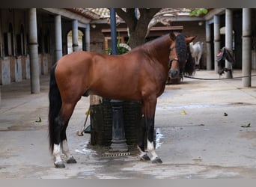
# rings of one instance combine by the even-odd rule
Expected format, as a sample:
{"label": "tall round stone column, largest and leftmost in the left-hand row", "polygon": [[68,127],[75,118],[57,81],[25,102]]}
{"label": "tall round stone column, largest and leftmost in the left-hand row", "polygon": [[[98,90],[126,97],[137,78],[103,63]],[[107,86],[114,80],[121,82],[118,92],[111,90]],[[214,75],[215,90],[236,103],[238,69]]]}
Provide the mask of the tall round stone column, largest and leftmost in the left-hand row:
{"label": "tall round stone column, largest and leftmost in the left-hand row", "polygon": [[29,29],[29,60],[30,60],[30,81],[31,93],[40,93],[40,74],[38,63],[38,43],[37,43],[37,10],[31,8],[28,11]]}

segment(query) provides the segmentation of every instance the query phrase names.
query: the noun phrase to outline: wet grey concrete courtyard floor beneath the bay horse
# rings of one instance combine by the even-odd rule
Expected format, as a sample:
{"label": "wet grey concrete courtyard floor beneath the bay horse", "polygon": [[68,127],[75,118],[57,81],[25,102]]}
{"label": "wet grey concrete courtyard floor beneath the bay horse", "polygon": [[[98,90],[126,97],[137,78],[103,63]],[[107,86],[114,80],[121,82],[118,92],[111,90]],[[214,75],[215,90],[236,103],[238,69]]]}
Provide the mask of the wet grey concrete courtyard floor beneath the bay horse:
{"label": "wet grey concrete courtyard floor beneath the bay horse", "polygon": [[[195,76],[218,78],[204,70]],[[30,94],[29,80],[1,86],[0,178],[256,178],[255,77],[252,88],[243,88],[241,79],[185,78],[167,85],[156,107],[156,153],[162,164],[139,161],[137,150],[102,156],[108,147],[91,146],[90,134],[77,136],[89,105],[89,98],[82,98],[67,129],[77,164],[64,169],[54,168],[48,148],[49,76],[40,81],[39,94]]]}

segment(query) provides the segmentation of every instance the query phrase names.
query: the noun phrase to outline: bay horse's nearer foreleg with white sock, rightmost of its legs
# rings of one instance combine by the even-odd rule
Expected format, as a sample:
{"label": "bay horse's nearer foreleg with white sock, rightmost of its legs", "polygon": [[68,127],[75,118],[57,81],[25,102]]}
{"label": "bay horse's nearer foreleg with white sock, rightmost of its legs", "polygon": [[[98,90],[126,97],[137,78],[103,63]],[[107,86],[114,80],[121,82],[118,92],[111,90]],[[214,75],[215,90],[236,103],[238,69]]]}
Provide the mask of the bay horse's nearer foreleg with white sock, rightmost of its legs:
{"label": "bay horse's nearer foreleg with white sock, rightmost of its legs", "polygon": [[156,155],[153,145],[153,132],[155,123],[156,97],[145,102],[145,125],[147,127],[147,150],[150,153],[150,160],[153,163],[162,163],[162,160]]}

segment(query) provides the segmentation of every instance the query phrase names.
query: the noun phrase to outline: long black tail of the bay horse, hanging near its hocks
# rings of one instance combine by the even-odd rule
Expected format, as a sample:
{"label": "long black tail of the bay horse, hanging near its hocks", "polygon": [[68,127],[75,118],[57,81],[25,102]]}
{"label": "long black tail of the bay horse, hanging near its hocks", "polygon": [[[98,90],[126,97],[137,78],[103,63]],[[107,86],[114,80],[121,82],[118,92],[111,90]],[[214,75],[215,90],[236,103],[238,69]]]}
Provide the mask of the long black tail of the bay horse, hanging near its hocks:
{"label": "long black tail of the bay horse, hanging near its hocks", "polygon": [[55,79],[56,64],[52,66],[49,81],[49,149],[53,151],[53,144],[55,139],[55,118],[58,116],[61,110],[61,94],[58,90],[58,85]]}

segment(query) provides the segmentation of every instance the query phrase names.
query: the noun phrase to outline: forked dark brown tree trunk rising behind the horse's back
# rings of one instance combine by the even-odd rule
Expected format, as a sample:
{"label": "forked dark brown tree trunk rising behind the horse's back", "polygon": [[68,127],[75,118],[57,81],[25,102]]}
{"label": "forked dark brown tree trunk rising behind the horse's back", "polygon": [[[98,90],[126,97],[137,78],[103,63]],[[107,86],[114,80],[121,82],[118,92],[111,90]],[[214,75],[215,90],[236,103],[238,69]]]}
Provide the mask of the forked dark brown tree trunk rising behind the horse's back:
{"label": "forked dark brown tree trunk rising behind the horse's back", "polygon": [[139,16],[136,16],[135,8],[116,8],[118,13],[127,23],[129,29],[129,46],[134,48],[144,43],[147,35],[147,27],[153,19],[153,16],[159,12],[161,8],[138,8]]}

